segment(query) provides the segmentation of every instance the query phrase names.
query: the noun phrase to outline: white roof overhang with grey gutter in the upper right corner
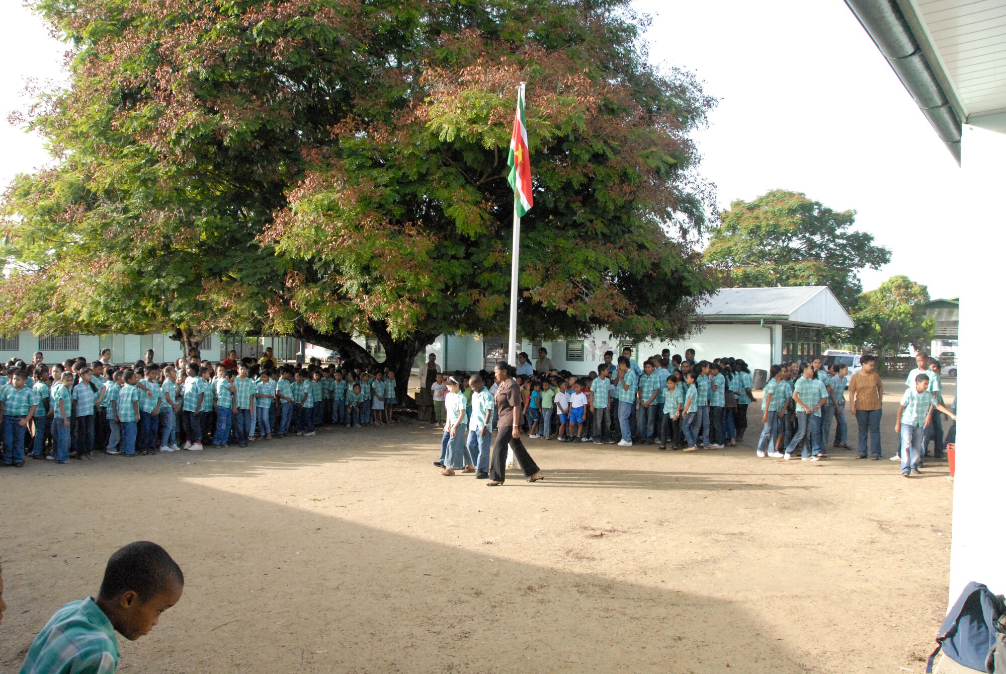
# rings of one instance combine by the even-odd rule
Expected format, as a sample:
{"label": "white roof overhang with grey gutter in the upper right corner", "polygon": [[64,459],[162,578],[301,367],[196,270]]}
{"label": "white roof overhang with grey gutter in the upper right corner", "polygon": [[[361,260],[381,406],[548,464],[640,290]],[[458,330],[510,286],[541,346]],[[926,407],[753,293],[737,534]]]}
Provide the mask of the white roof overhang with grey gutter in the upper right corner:
{"label": "white roof overhang with grey gutter in the upper right corner", "polygon": [[961,163],[962,123],[1006,133],[1006,0],[845,0]]}

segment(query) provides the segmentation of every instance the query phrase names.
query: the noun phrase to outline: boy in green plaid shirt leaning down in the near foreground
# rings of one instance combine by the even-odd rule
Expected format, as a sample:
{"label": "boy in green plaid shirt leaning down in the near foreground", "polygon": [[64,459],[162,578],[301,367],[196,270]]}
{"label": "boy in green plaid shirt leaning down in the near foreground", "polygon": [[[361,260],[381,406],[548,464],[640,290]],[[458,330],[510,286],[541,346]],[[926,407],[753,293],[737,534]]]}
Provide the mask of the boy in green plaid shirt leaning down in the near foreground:
{"label": "boy in green plaid shirt leaning down in the near foreground", "polygon": [[184,584],[182,569],[157,543],[120,548],[105,567],[98,599],[56,611],[28,649],[21,674],[112,674],[119,665],[115,633],[130,641],[148,634],[181,599]]}

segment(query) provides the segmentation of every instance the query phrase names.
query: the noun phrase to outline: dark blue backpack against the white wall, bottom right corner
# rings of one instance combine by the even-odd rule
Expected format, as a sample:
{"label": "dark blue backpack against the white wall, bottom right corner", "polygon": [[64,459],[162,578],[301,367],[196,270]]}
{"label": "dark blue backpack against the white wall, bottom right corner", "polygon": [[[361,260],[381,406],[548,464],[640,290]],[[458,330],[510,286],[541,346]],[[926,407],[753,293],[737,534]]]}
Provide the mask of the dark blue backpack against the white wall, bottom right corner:
{"label": "dark blue backpack against the white wall, bottom right corner", "polygon": [[933,661],[943,649],[954,662],[985,671],[985,660],[996,643],[999,617],[1006,614],[1002,596],[995,596],[980,582],[969,582],[940,626],[937,648],[926,666],[933,671]]}

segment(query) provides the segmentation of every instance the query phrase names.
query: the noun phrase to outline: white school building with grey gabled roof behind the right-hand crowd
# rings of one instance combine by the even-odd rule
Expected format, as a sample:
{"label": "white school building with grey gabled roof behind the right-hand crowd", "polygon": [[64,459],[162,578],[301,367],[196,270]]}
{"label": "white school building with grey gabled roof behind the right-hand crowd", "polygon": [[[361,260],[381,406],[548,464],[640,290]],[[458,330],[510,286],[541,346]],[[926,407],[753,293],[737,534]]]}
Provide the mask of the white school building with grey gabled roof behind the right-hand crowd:
{"label": "white school building with grey gabled roof behind the right-hand crowd", "polygon": [[[602,328],[582,339],[524,340],[520,349],[534,361],[543,346],[557,369],[574,374],[597,370],[605,351],[614,351],[618,359],[627,346],[634,359],[665,348],[683,356],[685,349],[693,348],[699,360],[733,356],[743,358],[752,372],[768,372],[773,363],[820,354],[824,328],[853,327],[849,314],[825,286],[727,288],[712,295],[698,314],[701,323],[694,334],[676,342],[637,343]],[[445,371],[491,370],[500,360],[515,360],[507,357],[506,342],[506,335],[442,335],[427,347],[427,354],[436,353]]]}

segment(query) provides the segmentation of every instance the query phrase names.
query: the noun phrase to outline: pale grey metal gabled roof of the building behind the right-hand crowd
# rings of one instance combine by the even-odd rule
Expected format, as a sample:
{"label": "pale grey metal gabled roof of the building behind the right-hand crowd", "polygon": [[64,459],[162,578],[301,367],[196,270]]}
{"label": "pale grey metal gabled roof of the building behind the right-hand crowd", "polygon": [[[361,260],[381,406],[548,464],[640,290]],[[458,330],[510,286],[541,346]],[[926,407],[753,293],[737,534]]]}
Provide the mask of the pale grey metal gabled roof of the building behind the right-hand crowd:
{"label": "pale grey metal gabled roof of the building behind the right-hand crowd", "polygon": [[699,307],[698,313],[706,319],[745,316],[832,328],[854,326],[827,286],[723,288]]}

